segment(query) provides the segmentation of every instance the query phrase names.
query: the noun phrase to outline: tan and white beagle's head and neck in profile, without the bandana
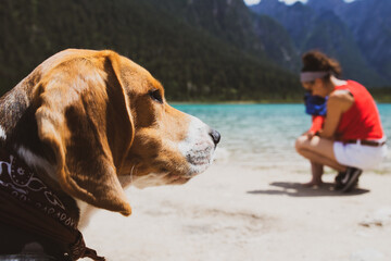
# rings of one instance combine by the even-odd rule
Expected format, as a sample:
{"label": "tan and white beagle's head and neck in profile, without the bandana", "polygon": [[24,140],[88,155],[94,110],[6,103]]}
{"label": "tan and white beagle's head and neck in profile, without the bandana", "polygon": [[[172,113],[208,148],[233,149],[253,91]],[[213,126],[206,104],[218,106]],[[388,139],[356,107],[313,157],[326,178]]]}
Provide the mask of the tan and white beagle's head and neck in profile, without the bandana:
{"label": "tan and white beagle's head and neck in profile, without the bandana", "polygon": [[65,198],[79,224],[89,207],[130,215],[129,185],[187,183],[212,163],[219,139],[110,50],[61,51],[0,99],[1,147]]}

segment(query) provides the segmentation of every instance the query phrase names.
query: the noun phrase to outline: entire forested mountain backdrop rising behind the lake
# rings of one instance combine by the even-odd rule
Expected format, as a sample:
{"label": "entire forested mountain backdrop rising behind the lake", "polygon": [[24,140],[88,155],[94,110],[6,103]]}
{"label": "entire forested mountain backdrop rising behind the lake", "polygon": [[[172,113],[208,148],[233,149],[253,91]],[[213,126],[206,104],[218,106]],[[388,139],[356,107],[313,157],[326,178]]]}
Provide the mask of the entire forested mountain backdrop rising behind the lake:
{"label": "entire forested mountain backdrop rising behind the lake", "polygon": [[316,48],[388,99],[390,18],[369,23],[365,11],[382,17],[384,1],[262,0],[251,11],[242,0],[1,0],[0,94],[55,52],[84,48],[130,58],[169,100],[301,101],[300,57]]}

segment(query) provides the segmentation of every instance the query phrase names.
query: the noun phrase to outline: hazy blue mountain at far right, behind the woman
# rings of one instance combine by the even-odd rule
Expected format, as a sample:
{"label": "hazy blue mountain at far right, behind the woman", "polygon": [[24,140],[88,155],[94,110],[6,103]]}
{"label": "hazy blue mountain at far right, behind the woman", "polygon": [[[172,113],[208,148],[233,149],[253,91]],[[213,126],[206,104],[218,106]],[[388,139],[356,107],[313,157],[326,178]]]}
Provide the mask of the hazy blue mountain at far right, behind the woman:
{"label": "hazy blue mountain at far right, behind the woman", "polygon": [[[345,3],[343,0],[308,0],[306,4],[297,2],[292,5],[287,5],[278,0],[262,0],[258,4],[251,5],[250,9],[279,22],[289,33],[299,53],[318,49],[340,61],[345,78],[356,79],[367,86],[383,86],[391,82],[391,77],[384,72],[387,71],[384,67],[380,69],[377,65],[375,57],[381,60],[381,62],[377,61],[380,64],[387,65],[387,61],[391,60],[381,59],[382,55],[379,53],[370,57],[367,50],[369,45],[373,46],[375,42],[374,38],[368,36],[370,34],[366,29],[367,22],[360,23],[362,26],[358,27],[364,28],[360,29],[355,27],[357,22],[354,21],[355,16],[361,15],[357,15],[357,10],[353,8],[358,3],[361,7],[364,2],[371,5],[371,1],[387,0],[358,0],[353,3]],[[362,8],[361,12],[373,15],[365,8]],[[375,16],[371,17],[375,18]],[[377,17],[389,20],[389,16],[383,14]],[[388,53],[390,49],[386,47],[386,44],[389,42],[386,29],[380,30],[383,36],[378,36],[383,40],[377,50],[381,49]],[[379,32],[379,29],[375,32]],[[358,39],[361,37],[363,39]],[[373,40],[367,46],[363,45],[366,38]]]}

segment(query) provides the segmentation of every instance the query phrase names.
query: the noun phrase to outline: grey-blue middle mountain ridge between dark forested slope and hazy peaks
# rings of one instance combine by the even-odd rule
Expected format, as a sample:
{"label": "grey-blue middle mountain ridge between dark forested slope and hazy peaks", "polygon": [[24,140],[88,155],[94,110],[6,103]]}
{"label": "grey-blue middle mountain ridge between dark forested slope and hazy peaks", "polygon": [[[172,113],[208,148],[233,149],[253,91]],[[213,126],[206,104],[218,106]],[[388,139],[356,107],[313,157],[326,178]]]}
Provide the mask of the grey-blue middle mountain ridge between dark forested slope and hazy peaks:
{"label": "grey-blue middle mountain ridge between dark forested slope and hazy peaks", "polygon": [[254,15],[242,0],[146,0],[261,60],[293,71],[300,63],[288,32],[268,16]]}

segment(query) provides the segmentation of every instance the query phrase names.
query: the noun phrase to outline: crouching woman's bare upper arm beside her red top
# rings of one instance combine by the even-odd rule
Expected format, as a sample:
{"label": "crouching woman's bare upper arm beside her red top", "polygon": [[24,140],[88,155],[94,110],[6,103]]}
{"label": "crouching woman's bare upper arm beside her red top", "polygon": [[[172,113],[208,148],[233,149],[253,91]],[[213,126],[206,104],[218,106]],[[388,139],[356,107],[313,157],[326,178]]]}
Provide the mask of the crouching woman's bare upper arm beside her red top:
{"label": "crouching woman's bare upper arm beside her red top", "polygon": [[336,90],[331,92],[327,101],[327,115],[324,129],[319,132],[319,136],[332,139],[342,113],[348,111],[354,103],[354,97],[348,90]]}

